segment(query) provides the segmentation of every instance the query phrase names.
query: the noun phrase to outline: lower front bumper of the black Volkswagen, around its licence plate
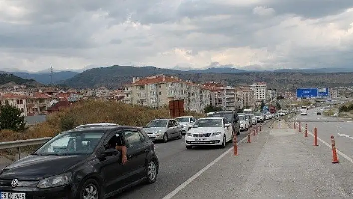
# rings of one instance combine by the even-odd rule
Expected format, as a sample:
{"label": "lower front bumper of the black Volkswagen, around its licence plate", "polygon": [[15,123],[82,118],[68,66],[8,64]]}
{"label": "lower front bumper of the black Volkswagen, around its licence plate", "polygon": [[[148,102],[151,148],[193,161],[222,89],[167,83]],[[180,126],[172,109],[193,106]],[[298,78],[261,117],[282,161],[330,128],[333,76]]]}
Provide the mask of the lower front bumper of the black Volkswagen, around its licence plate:
{"label": "lower front bumper of the black Volkswagen, around its licence plate", "polygon": [[71,190],[70,185],[48,189],[0,186],[1,193],[25,193],[25,199],[74,199],[76,193],[71,192]]}

